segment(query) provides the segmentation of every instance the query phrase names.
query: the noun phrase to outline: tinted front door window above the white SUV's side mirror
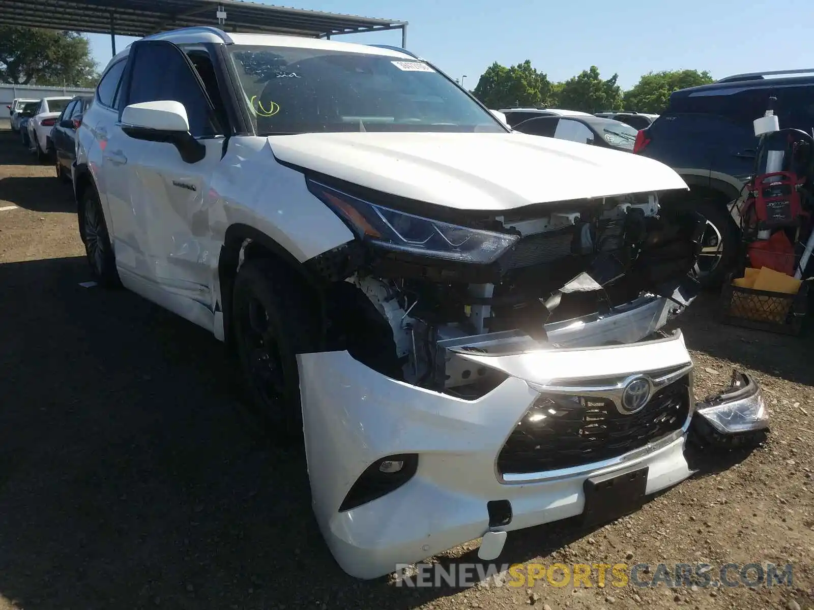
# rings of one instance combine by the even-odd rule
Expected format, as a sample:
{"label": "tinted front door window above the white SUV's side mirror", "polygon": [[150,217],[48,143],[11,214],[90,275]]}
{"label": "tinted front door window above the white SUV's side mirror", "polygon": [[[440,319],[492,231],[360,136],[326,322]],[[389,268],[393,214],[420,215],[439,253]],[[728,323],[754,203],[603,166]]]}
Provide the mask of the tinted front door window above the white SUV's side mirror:
{"label": "tinted front door window above the white SUV's side mirror", "polygon": [[[190,133],[195,137],[218,133],[214,113],[199,77],[176,46],[148,42],[135,46],[127,104],[173,100],[186,108]],[[156,71],[155,67],[161,70]]]}

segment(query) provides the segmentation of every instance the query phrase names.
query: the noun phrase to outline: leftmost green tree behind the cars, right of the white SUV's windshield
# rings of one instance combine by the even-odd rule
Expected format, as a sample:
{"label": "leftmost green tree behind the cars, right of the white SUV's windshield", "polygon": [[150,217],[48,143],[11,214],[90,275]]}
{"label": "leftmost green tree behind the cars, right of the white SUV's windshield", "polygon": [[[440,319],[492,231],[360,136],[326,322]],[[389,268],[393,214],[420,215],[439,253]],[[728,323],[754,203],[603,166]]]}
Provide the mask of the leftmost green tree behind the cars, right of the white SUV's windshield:
{"label": "leftmost green tree behind the cars, right of the white SUV's windshield", "polygon": [[545,73],[532,68],[532,62],[528,59],[510,68],[495,62],[480,75],[478,85],[472,93],[484,105],[494,109],[515,104],[548,105],[551,83]]}

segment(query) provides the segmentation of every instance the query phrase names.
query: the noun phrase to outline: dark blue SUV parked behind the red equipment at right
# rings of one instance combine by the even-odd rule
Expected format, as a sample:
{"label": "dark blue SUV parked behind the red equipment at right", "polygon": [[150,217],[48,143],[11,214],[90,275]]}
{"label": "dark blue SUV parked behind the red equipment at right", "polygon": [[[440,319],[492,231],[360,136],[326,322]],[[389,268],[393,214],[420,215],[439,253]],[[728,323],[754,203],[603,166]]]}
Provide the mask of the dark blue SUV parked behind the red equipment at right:
{"label": "dark blue SUV parked behind the red equipment at right", "polygon": [[[804,76],[790,76],[804,75]],[[694,210],[707,218],[698,275],[718,285],[735,263],[740,234],[728,204],[751,175],[758,138],[752,121],[777,98],[781,128],[814,128],[814,69],[729,76],[676,91],[667,110],[637,136],[633,152],[667,163],[689,193],[664,197],[663,207]]]}

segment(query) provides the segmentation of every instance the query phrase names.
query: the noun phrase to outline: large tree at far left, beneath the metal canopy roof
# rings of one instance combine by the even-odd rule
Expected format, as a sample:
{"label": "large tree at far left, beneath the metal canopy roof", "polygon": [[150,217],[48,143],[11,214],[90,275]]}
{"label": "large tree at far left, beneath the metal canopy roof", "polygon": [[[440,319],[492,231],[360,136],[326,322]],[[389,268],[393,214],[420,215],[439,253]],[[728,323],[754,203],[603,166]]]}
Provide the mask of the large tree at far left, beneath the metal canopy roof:
{"label": "large tree at far left, beneath the metal canopy roof", "polygon": [[0,82],[93,86],[97,77],[88,39],[81,34],[0,26]]}

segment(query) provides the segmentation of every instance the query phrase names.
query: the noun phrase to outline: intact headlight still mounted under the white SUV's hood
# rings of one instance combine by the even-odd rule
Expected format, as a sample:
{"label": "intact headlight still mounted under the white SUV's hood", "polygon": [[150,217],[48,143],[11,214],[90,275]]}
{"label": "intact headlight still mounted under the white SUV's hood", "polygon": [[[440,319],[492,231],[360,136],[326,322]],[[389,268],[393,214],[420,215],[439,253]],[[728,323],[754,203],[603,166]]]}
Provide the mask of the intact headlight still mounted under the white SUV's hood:
{"label": "intact headlight still mounted under the white SUV's hood", "polygon": [[308,180],[308,188],[359,237],[389,250],[488,264],[519,239],[516,235],[460,227],[375,205],[313,180]]}

